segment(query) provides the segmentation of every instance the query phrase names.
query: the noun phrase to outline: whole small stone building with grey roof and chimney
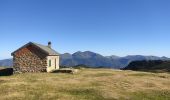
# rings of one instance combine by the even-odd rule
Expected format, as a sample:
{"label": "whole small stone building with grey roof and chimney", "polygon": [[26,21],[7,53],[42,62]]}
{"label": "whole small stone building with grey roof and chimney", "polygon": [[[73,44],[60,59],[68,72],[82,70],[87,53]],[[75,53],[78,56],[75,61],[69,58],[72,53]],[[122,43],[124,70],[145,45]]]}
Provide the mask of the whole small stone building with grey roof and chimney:
{"label": "whole small stone building with grey roof and chimney", "polygon": [[59,53],[47,46],[29,42],[14,51],[14,72],[51,72],[59,69]]}

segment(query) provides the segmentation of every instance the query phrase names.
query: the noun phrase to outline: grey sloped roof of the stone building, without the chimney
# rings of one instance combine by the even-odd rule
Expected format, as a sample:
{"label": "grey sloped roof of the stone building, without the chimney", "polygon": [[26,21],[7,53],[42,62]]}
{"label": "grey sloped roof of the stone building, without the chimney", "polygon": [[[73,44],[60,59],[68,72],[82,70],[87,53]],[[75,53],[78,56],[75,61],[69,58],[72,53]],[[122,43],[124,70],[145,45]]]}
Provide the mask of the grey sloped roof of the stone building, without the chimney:
{"label": "grey sloped roof of the stone building, without the chimney", "polygon": [[27,47],[29,45],[33,45],[33,46],[36,46],[37,48],[39,48],[40,50],[44,51],[47,55],[60,55],[58,52],[56,52],[55,50],[53,50],[52,48],[49,48],[48,46],[45,46],[45,45],[41,45],[41,44],[38,44],[38,43],[34,43],[34,42],[29,42],[27,43],[26,45],[22,46],[21,48],[19,48],[18,50],[14,51],[12,53],[12,55],[19,51],[20,49],[24,48],[24,47]]}

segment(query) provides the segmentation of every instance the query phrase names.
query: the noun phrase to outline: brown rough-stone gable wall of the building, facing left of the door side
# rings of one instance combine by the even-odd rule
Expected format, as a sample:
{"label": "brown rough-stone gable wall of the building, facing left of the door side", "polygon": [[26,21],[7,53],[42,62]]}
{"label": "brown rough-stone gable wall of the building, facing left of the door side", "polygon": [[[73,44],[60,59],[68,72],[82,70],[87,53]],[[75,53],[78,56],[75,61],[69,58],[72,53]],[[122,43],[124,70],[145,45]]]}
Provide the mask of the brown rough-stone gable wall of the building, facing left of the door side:
{"label": "brown rough-stone gable wall of the building, facing left of the door side", "polygon": [[22,48],[14,54],[15,72],[46,72],[46,54],[34,46]]}

